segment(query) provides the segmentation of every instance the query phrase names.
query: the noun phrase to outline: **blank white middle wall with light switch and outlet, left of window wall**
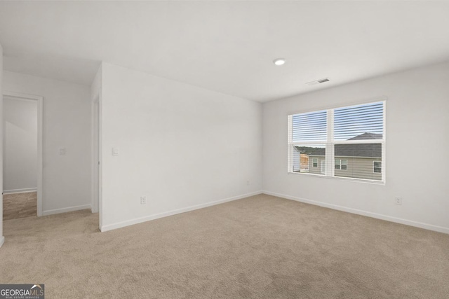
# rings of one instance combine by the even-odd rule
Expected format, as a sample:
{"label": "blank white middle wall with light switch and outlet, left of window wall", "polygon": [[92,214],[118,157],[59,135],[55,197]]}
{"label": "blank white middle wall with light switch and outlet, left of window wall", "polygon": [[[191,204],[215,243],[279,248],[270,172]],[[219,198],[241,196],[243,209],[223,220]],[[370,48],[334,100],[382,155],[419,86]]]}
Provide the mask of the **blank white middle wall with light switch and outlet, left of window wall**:
{"label": "blank white middle wall with light switch and outlet, left of window wall", "polygon": [[261,189],[261,104],[105,63],[101,106],[102,231]]}

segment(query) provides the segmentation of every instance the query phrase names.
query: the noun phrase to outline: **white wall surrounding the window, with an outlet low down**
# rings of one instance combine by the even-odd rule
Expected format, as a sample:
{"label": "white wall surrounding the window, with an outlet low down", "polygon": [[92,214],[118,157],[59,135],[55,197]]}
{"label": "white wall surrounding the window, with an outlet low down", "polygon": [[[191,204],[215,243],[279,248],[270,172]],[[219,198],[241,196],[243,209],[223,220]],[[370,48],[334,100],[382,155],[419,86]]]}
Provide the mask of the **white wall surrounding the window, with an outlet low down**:
{"label": "white wall surrounding the window, with an outlet low down", "polygon": [[[386,184],[287,174],[287,116],[387,97]],[[263,105],[267,193],[449,233],[449,64]],[[394,204],[394,197],[403,204]]]}

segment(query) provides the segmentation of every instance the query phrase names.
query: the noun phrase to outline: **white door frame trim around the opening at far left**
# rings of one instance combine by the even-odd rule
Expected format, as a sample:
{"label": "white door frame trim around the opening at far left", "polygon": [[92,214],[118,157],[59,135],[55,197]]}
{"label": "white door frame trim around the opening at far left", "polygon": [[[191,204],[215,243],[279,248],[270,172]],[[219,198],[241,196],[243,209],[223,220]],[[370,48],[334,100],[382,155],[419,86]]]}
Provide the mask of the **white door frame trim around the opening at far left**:
{"label": "white door frame trim around the opening at far left", "polygon": [[17,99],[32,99],[37,101],[37,216],[42,216],[42,176],[43,176],[43,97],[39,95],[27,95],[20,92],[4,91],[6,97],[15,97]]}

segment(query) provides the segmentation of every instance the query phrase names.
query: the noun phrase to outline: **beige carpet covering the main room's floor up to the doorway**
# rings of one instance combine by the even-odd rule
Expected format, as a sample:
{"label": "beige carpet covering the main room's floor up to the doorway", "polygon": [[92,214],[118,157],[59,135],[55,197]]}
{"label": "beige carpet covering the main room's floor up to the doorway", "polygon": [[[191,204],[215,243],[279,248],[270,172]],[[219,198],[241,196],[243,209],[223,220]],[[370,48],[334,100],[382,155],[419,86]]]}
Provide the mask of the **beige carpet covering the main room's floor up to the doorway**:
{"label": "beige carpet covering the main room's floor up to the doorway", "polygon": [[449,235],[257,195],[110,232],[4,221],[0,282],[46,298],[449,298]]}

